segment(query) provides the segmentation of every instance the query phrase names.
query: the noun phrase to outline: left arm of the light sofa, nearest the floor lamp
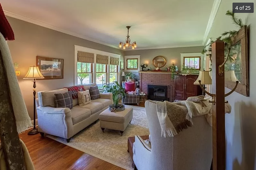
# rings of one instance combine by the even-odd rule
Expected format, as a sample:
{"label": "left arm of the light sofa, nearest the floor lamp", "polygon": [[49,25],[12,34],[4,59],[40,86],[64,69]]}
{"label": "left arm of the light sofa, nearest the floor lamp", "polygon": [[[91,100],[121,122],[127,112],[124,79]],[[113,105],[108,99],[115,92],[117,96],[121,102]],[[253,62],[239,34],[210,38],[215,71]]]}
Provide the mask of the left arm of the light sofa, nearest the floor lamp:
{"label": "left arm of the light sofa, nearest the floor lamp", "polygon": [[38,131],[62,138],[73,136],[73,122],[69,108],[37,107]]}

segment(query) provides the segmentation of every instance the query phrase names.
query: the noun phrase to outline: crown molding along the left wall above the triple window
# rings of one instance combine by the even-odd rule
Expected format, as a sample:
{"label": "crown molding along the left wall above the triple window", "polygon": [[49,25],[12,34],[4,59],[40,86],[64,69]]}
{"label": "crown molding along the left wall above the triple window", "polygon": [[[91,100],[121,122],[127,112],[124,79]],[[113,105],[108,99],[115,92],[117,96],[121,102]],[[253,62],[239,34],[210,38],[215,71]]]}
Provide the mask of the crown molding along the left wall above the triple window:
{"label": "crown molding along the left wall above the triple window", "polygon": [[[118,46],[113,46],[111,44],[106,44],[104,42],[100,42],[98,40],[94,40],[92,38],[88,38],[82,34],[78,34],[78,33],[75,33],[75,32],[72,32],[72,31],[68,31],[68,30],[64,30],[62,28],[58,28],[56,26],[52,26],[50,24],[47,24],[45,22],[42,22],[42,21],[39,21],[39,20],[34,20],[32,18],[28,18],[28,17],[25,17],[25,16],[21,16],[21,15],[18,15],[18,14],[15,14],[13,12],[9,12],[9,11],[6,11],[4,10],[4,14],[6,16],[10,16],[12,18],[16,18],[18,20],[22,20],[22,21],[26,21],[26,22],[30,22],[32,24],[36,24],[36,25],[39,25],[39,26],[42,26],[42,27],[45,27],[45,28],[49,28],[51,30],[55,30],[55,31],[58,31],[58,32],[62,32],[62,33],[65,33],[65,34],[68,34],[68,35],[71,35],[71,36],[75,36],[75,37],[78,37],[78,38],[82,38],[82,39],[85,39],[85,40],[89,40],[89,41],[92,41],[92,42],[96,42],[98,44],[102,44],[102,45],[105,45],[105,46],[110,46],[112,48],[117,48],[117,49],[120,49]],[[120,49],[121,50],[121,49]]]}

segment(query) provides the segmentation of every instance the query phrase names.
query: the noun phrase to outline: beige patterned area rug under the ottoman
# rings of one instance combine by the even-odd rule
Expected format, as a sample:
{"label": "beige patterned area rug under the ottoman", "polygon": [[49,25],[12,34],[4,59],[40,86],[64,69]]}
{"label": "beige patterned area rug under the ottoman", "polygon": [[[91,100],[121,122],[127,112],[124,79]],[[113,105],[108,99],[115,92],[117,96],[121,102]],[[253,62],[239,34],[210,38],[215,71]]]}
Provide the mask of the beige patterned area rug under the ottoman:
{"label": "beige patterned area rug under the ottoman", "polygon": [[130,107],[133,108],[133,118],[123,136],[116,130],[105,129],[103,133],[100,122],[97,121],[96,124],[88,126],[73,136],[69,143],[57,136],[47,135],[47,137],[126,170],[133,170],[132,158],[127,152],[127,138],[135,135],[148,135],[149,130],[145,108]]}

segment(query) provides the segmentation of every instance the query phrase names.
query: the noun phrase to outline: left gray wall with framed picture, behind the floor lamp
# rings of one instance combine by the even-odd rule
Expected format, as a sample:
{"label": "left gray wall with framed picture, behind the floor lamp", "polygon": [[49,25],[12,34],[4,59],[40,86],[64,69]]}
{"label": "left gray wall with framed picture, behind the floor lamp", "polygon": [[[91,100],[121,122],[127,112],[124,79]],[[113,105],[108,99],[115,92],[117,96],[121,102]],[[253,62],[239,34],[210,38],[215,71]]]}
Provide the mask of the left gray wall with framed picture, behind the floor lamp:
{"label": "left gray wall with framed picture, behind the floor lamp", "polygon": [[[37,91],[53,90],[74,85],[74,45],[124,55],[122,50],[54,31],[42,26],[7,17],[14,30],[15,40],[8,41],[13,62],[18,62],[18,81],[28,113],[33,118],[33,83],[23,77],[29,66],[36,65],[36,56],[64,59],[64,79],[38,80]],[[123,60],[121,57],[120,60]]]}

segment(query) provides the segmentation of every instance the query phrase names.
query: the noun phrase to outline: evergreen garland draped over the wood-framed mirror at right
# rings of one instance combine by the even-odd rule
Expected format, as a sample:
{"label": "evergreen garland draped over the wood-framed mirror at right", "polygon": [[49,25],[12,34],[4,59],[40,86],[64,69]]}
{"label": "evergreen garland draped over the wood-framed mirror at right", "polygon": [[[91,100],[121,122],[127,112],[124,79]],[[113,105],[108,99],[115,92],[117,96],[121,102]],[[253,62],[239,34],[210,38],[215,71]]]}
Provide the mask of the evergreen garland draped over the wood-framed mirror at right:
{"label": "evergreen garland draped over the wood-framed mirror at right", "polygon": [[[242,19],[238,18],[235,15],[235,13],[233,13],[231,10],[228,10],[226,12],[226,15],[230,16],[233,24],[235,24],[239,28],[239,30],[244,26],[244,24],[242,22]],[[230,49],[232,47],[231,37],[238,34],[239,30],[226,31],[226,32],[222,33],[221,36],[216,38],[216,40],[222,40],[225,43],[225,54],[227,54],[227,56],[225,55],[225,59],[226,59],[226,57],[228,57],[228,60],[230,60],[230,62],[233,61],[233,59],[230,57]],[[209,52],[208,54],[206,54],[206,56],[210,56],[211,66],[212,66],[212,54],[211,54],[211,52],[212,52],[212,43],[214,43],[214,41],[211,41],[209,44],[204,46],[204,49],[202,50],[202,54],[205,54],[206,52]],[[208,47],[209,47],[209,49],[206,50],[206,48],[208,48]],[[210,71],[211,70],[212,70],[212,68],[210,68]]]}

